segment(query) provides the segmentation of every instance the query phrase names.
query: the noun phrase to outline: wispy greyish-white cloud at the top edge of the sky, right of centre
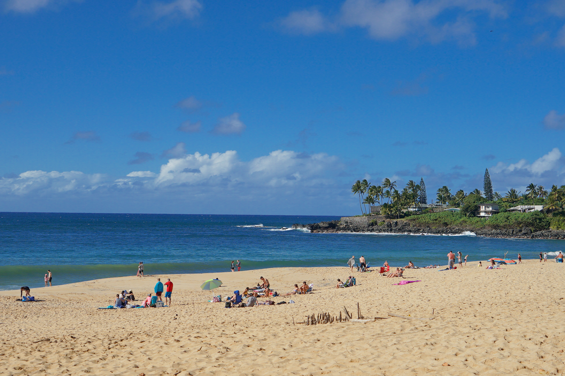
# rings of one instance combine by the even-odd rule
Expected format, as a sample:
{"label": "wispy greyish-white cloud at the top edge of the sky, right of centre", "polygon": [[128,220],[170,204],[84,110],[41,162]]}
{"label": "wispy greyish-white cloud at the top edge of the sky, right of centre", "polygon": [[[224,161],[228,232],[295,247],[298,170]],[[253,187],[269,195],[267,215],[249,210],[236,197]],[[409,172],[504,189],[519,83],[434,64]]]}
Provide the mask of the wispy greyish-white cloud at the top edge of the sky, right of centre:
{"label": "wispy greyish-white cloud at the top edge of the sky, right of centre", "polygon": [[367,29],[373,39],[386,41],[414,36],[432,43],[454,39],[473,44],[472,19],[478,14],[506,17],[506,9],[494,0],[346,0],[336,21],[329,21],[318,10],[302,10],[291,12],[279,24],[296,34],[310,35],[345,26]]}

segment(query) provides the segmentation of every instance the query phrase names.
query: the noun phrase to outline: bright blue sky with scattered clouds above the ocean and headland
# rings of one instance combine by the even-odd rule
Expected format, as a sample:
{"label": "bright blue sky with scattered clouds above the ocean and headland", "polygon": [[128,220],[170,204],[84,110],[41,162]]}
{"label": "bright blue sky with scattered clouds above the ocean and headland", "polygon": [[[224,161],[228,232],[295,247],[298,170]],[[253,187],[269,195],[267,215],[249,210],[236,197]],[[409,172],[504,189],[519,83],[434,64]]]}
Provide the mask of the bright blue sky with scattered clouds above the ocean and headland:
{"label": "bright blue sky with scattered clouds above the ocean and headland", "polygon": [[[565,184],[565,1],[0,1],[0,211]],[[129,175],[129,176],[128,176]]]}

